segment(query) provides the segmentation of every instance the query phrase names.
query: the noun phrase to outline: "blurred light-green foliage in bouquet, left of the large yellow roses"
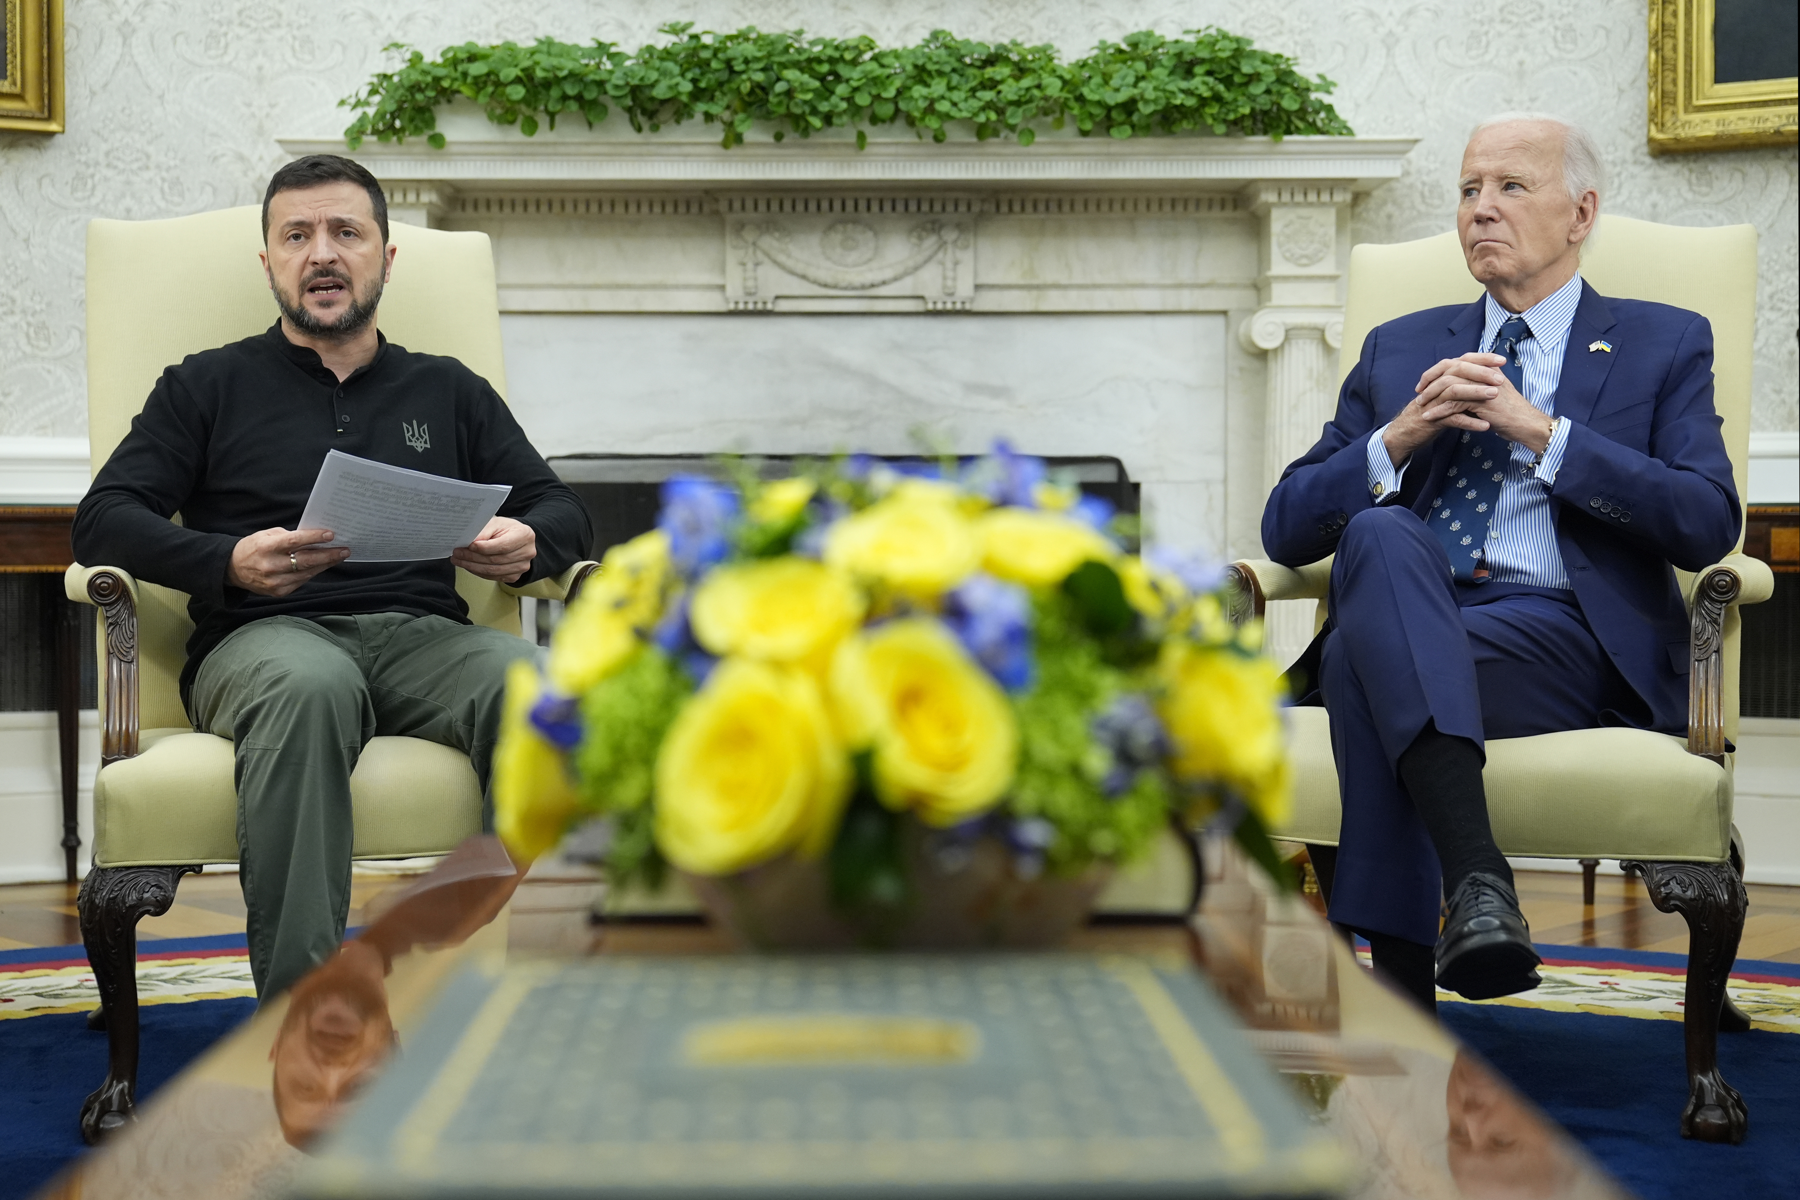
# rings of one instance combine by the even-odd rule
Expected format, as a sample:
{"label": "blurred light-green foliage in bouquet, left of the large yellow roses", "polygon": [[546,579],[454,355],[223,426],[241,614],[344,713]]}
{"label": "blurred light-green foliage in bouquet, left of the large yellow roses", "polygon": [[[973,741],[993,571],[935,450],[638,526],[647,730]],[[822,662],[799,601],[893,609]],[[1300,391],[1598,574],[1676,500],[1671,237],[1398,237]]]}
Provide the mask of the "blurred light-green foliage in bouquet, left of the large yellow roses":
{"label": "blurred light-green foliage in bouquet, left of the large yellow roses", "polygon": [[614,817],[607,867],[621,887],[655,887],[662,878],[650,793],[662,736],[691,691],[675,660],[644,646],[581,696],[585,732],[574,750],[576,777],[583,804]]}

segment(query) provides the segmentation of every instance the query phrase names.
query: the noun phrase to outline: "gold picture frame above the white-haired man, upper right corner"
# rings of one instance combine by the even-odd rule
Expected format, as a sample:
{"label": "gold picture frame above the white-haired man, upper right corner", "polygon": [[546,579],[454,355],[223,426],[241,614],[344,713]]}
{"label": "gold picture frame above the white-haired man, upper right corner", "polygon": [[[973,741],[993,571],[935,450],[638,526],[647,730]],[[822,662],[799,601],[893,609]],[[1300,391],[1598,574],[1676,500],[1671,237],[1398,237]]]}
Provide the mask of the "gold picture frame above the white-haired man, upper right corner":
{"label": "gold picture frame above the white-haired man, upper right corner", "polygon": [[1651,153],[1793,146],[1796,77],[1719,83],[1715,0],[1651,0]]}

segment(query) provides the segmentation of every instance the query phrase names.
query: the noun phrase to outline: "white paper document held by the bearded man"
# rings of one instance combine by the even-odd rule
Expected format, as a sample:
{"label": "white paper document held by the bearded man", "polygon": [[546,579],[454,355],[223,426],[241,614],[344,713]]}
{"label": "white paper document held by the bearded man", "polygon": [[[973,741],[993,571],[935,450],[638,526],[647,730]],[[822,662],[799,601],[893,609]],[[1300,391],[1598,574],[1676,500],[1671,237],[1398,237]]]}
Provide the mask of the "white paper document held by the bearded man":
{"label": "white paper document held by the bearded man", "polygon": [[333,536],[322,545],[347,545],[353,563],[450,558],[481,534],[511,491],[333,450],[299,527],[329,529]]}

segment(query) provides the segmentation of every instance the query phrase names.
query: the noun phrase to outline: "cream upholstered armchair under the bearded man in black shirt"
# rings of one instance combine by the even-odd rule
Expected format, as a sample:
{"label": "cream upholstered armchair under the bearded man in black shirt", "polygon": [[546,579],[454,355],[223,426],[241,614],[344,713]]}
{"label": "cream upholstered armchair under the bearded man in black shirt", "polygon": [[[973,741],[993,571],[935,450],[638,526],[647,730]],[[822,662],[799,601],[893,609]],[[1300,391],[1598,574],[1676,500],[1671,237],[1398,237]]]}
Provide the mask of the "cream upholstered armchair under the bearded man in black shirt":
{"label": "cream upholstered armchair under the bearded man in black shirt", "polygon": [[[407,349],[450,354],[506,394],[493,254],[486,234],[394,223],[400,248],[382,297],[382,331]],[[261,209],[169,221],[88,225],[88,444],[112,455],[162,369],[261,333],[275,302],[257,263]],[[169,254],[189,284],[166,300]],[[594,563],[506,588],[457,572],[470,619],[520,631],[518,597],[567,599]],[[94,865],[81,885],[81,939],[101,991],[88,1018],[110,1040],[106,1081],[81,1106],[95,1141],[133,1115],[137,1087],[137,921],[167,912],[182,874],[238,862],[232,745],[194,732],[176,680],[187,596],[81,563],[68,597],[99,604],[101,770],[94,781]],[[356,858],[443,855],[481,829],[482,797],[463,754],[418,738],[374,738],[351,775]]]}

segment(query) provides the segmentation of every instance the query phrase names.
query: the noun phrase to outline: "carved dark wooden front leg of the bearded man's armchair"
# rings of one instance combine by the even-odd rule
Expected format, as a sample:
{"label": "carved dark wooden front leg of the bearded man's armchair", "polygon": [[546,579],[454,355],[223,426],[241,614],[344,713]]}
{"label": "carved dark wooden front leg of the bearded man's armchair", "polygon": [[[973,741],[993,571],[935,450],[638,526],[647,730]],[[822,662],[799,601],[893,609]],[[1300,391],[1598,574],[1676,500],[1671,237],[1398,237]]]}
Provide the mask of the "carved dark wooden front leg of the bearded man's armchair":
{"label": "carved dark wooden front leg of the bearded man's armchair", "polygon": [[182,876],[200,867],[94,867],[76,896],[81,941],[101,991],[106,1081],[81,1101],[81,1139],[90,1146],[126,1121],[137,1099],[137,923],[175,903]]}

